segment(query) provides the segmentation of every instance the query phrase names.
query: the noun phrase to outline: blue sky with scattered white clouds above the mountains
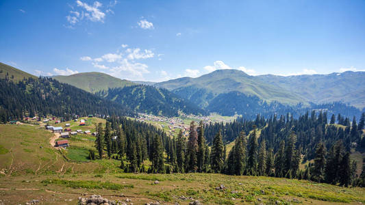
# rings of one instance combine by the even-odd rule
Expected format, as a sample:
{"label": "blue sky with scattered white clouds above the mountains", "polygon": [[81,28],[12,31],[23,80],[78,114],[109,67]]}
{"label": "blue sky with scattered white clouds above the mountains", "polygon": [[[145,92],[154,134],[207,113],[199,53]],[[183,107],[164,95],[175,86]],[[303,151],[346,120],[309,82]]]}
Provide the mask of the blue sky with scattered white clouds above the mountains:
{"label": "blue sky with scattered white clouds above the mountains", "polygon": [[0,1],[0,61],[129,80],[365,70],[365,1]]}

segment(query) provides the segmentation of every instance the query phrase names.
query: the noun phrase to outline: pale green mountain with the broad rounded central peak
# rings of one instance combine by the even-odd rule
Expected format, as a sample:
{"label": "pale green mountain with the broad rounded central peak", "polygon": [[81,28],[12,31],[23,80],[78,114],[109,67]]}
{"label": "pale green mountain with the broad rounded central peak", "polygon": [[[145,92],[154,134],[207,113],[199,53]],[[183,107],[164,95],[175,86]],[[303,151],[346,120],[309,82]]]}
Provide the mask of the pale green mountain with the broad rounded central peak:
{"label": "pale green mountain with the broad rounded central peak", "polygon": [[156,83],[155,86],[171,90],[201,107],[207,107],[218,94],[234,91],[257,96],[266,101],[275,100],[291,105],[304,101],[297,94],[282,88],[278,89],[240,70],[216,70],[198,78],[184,77]]}

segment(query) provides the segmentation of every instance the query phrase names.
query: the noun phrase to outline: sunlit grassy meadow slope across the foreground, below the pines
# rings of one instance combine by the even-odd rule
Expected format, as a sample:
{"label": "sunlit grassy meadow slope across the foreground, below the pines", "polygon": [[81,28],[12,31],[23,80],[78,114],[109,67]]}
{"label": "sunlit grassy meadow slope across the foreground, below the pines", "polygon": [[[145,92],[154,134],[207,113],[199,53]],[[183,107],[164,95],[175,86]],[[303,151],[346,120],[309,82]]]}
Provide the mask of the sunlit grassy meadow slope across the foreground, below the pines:
{"label": "sunlit grassy meadow slope across the foreground, below the pines", "polygon": [[[359,204],[364,188],[306,180],[223,174],[125,174],[119,161],[88,161],[90,135],[70,139],[71,149],[49,145],[52,133],[28,125],[0,125],[0,200],[4,204],[76,204],[83,194],[134,204],[160,201],[188,204]],[[73,148],[74,147],[74,148]],[[159,183],[155,184],[155,180]],[[226,188],[216,190],[223,184]]]}

